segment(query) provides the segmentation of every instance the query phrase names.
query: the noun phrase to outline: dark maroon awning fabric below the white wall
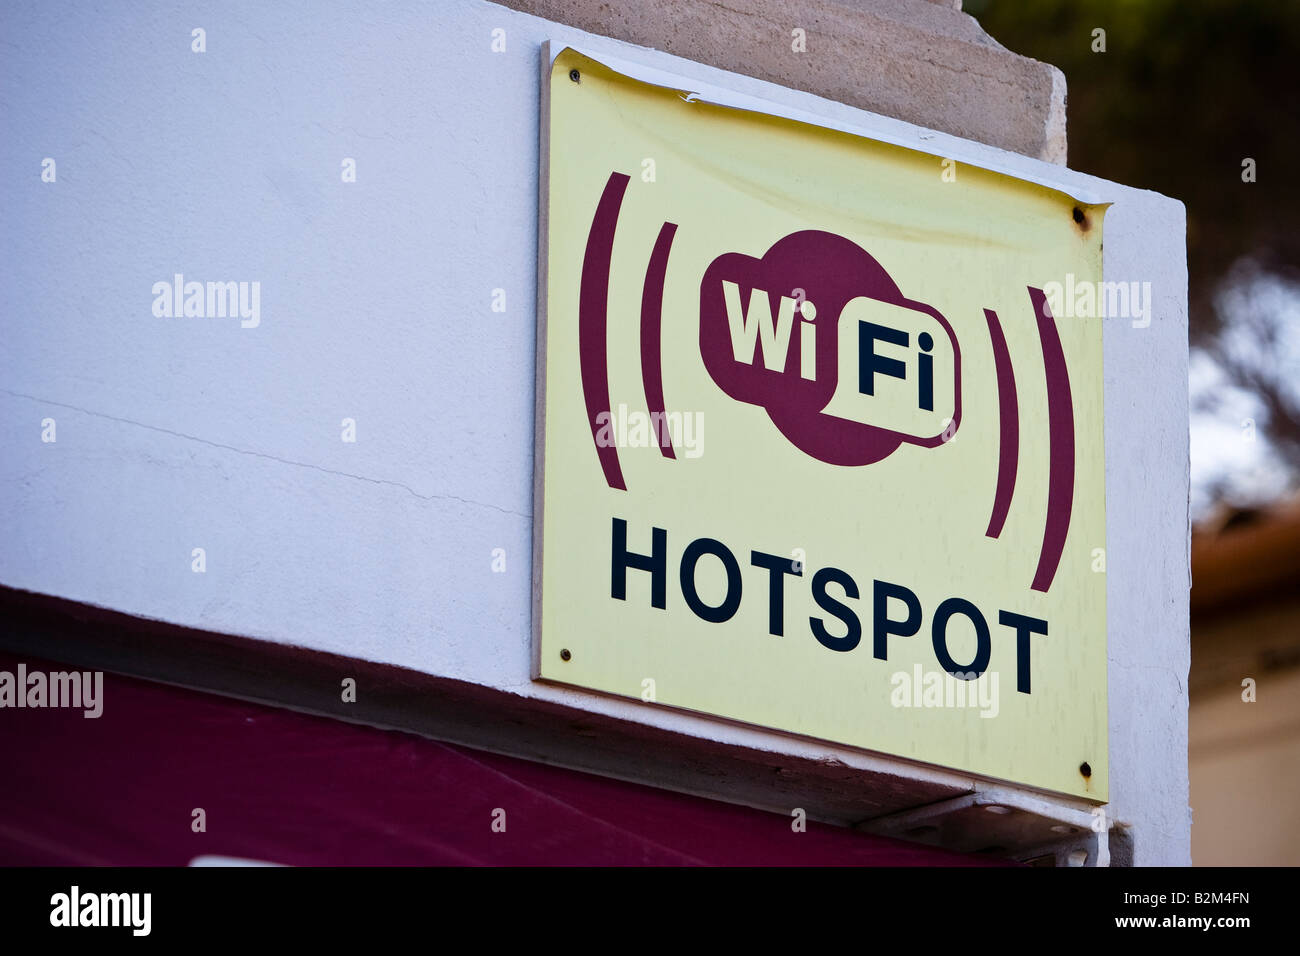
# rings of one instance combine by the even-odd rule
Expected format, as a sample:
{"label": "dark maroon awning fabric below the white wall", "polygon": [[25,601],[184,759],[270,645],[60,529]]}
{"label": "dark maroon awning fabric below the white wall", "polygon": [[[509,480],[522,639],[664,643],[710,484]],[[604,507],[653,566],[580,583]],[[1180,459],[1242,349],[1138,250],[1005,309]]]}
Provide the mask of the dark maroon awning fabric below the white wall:
{"label": "dark maroon awning fabric below the white wall", "polygon": [[0,710],[0,762],[4,865],[1002,862],[113,674],[99,718]]}

